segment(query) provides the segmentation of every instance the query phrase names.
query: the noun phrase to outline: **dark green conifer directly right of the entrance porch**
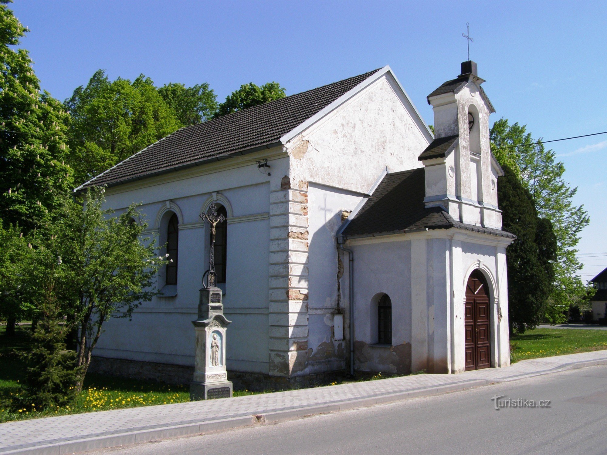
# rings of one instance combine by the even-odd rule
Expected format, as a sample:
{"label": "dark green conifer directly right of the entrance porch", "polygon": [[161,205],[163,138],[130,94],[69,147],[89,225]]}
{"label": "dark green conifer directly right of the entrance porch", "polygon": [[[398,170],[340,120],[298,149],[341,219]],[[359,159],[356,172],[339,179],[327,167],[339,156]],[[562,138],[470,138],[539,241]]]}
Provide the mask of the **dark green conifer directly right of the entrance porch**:
{"label": "dark green conifer directly right of the entrance porch", "polygon": [[498,181],[503,227],[517,239],[506,250],[510,332],[540,323],[554,286],[556,239],[552,224],[539,218],[529,191],[504,166]]}

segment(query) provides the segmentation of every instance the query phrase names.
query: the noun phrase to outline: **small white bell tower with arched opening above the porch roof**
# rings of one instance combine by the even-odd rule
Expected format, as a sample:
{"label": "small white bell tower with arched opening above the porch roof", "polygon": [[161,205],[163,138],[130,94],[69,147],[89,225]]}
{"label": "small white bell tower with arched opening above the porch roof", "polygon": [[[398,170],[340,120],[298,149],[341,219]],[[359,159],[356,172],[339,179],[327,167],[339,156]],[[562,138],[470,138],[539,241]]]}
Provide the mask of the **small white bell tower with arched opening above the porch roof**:
{"label": "small white bell tower with arched opening above the porch roof", "polygon": [[419,155],[426,173],[426,207],[442,206],[455,220],[501,229],[497,177],[503,174],[489,145],[489,115],[495,112],[476,63],[428,95],[435,140]]}

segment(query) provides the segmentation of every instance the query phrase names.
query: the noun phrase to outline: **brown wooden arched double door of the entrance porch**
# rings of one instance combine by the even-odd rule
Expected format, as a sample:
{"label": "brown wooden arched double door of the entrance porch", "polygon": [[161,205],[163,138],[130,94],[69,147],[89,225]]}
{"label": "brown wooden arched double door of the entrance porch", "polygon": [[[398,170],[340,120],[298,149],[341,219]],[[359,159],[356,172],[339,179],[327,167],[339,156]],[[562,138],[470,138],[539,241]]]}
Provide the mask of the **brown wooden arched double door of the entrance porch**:
{"label": "brown wooden arched double door of the entrance porch", "polygon": [[466,371],[491,366],[489,309],[487,280],[480,271],[475,270],[466,285]]}

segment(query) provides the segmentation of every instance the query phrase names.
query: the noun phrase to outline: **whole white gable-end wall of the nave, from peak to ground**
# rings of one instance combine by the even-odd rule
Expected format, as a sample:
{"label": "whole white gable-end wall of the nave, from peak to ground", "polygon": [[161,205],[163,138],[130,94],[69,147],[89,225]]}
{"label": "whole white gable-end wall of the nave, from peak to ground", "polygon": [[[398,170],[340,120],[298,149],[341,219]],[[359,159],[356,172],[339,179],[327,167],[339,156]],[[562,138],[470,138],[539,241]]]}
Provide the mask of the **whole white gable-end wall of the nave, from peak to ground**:
{"label": "whole white gable-end wall of the nave, from peak to ground", "polygon": [[[343,369],[348,358],[344,288],[339,296],[345,315],[344,341],[333,339],[338,272],[335,234],[342,212],[353,210],[386,168],[397,172],[421,167],[417,157],[430,140],[415,108],[388,72],[285,144],[291,182],[308,183],[306,372]],[[347,257],[342,262],[347,273]],[[342,282],[347,280],[342,278]]]}

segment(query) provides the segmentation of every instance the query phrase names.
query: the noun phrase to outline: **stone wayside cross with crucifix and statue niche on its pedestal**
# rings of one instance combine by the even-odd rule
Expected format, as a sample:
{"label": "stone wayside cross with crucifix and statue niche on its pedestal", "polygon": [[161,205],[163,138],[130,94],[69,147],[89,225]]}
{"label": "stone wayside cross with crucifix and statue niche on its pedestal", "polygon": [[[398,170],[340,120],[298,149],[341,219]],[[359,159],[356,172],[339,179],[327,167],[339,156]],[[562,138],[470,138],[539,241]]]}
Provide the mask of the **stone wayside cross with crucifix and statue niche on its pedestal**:
{"label": "stone wayside cross with crucifix and statue niche on its pedestal", "polygon": [[198,318],[192,321],[196,334],[194,380],[190,383],[190,400],[208,400],[232,396],[232,383],[226,373],[226,328],[231,322],[223,315],[222,290],[217,288],[215,274],[215,225],[225,218],[217,215],[215,203],[209,214],[200,217],[211,226],[211,251],[206,286],[200,289]]}

